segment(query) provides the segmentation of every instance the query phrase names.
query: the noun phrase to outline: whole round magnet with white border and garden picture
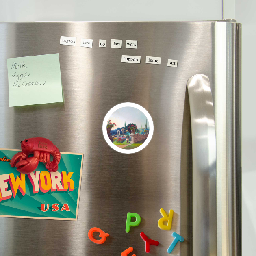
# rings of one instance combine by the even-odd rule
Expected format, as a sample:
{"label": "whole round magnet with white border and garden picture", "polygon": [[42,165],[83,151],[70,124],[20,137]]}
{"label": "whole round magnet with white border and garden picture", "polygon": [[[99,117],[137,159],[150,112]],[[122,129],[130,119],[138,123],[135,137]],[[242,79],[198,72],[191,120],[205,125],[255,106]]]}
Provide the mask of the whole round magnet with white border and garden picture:
{"label": "whole round magnet with white border and garden picture", "polygon": [[[109,120],[111,121],[108,122]],[[111,128],[112,133],[108,131],[109,133],[111,133],[111,135],[107,132],[107,125],[110,123],[111,125],[117,123],[116,126],[113,126]],[[125,124],[127,124],[127,126]],[[132,130],[137,131],[132,132],[133,135],[131,135],[131,133],[128,133],[128,130],[130,130],[128,127],[132,128],[132,126],[128,124],[136,124],[137,126],[137,130]],[[116,131],[117,133],[115,133],[115,129],[124,127],[126,128],[123,130],[119,129]],[[126,102],[118,104],[111,108],[110,111],[108,111],[102,124],[102,132],[106,142],[111,148],[124,154],[131,154],[143,150],[143,148],[145,148],[145,146],[150,143],[154,132],[154,124],[150,114],[148,113],[148,111],[145,110],[145,108],[135,103]],[[111,139],[113,139],[113,142],[111,141],[110,137],[108,137],[108,135],[111,137]],[[128,138],[125,137],[126,135],[130,136],[128,143]],[[144,137],[146,138],[141,140],[143,141],[142,143],[141,141],[137,141],[138,139]],[[122,142],[117,142],[118,139]]]}

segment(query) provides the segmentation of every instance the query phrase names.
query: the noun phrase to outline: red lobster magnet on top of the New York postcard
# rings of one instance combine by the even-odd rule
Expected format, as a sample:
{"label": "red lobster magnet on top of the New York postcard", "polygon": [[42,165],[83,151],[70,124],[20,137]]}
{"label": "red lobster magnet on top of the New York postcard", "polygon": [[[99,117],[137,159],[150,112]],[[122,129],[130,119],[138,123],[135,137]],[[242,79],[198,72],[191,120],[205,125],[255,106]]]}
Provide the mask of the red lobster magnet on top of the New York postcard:
{"label": "red lobster magnet on top of the New York postcard", "polygon": [[[18,152],[11,158],[11,167],[16,167],[22,174],[29,174],[37,169],[38,163],[46,163],[48,171],[57,171],[61,160],[61,152],[49,139],[37,137],[24,139],[20,142],[22,152]],[[28,157],[29,154],[34,154]],[[50,154],[53,161],[50,162]]]}

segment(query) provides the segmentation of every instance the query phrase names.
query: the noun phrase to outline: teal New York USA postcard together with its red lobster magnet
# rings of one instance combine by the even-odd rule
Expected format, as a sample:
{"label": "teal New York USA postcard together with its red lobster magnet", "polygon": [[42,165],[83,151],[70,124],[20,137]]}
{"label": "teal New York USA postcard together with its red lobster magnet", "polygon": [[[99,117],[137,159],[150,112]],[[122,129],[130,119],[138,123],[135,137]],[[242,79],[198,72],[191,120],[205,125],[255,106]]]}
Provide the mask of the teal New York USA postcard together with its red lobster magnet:
{"label": "teal New York USA postcard together with its red lobster magnet", "polygon": [[0,217],[77,220],[83,154],[45,138],[0,149]]}

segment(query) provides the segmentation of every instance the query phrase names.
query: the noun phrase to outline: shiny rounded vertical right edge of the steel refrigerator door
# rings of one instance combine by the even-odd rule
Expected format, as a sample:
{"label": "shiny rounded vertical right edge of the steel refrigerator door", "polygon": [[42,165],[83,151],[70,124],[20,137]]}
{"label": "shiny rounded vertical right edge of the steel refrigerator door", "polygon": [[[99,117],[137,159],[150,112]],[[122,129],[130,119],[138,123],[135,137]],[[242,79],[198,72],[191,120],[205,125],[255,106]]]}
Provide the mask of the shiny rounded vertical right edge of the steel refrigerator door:
{"label": "shiny rounded vertical right edge of the steel refrigerator door", "polygon": [[241,24],[215,23],[217,255],[241,255]]}

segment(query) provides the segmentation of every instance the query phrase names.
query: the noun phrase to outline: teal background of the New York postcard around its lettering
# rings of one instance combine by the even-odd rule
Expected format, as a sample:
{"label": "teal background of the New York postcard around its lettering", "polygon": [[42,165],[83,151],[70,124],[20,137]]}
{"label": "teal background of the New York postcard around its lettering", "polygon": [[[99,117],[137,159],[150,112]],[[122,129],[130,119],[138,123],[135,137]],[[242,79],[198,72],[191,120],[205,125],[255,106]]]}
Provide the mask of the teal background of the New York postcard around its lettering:
{"label": "teal background of the New York postcard around its lettering", "polygon": [[[0,150],[0,158],[4,156],[11,159],[17,152],[13,150]],[[32,184],[26,174],[26,194],[23,196],[18,190],[15,198],[0,201],[0,215],[16,216],[16,217],[36,217],[36,218],[63,218],[76,220],[76,211],[78,207],[78,193],[80,193],[79,183],[80,175],[82,175],[82,154],[61,154],[59,163],[59,171],[73,172],[71,179],[74,181],[75,189],[73,191],[48,191],[43,193],[33,193]],[[36,171],[46,171],[43,163],[39,162]],[[20,172],[16,168],[12,168],[10,162],[0,161],[0,175],[13,173],[16,179]],[[8,182],[8,189],[11,190]],[[67,203],[70,211],[60,211],[63,204]],[[49,204],[48,211],[43,212],[40,209],[41,204]],[[59,210],[52,211],[52,204],[59,204]]]}

